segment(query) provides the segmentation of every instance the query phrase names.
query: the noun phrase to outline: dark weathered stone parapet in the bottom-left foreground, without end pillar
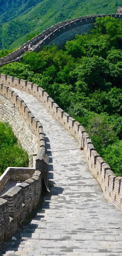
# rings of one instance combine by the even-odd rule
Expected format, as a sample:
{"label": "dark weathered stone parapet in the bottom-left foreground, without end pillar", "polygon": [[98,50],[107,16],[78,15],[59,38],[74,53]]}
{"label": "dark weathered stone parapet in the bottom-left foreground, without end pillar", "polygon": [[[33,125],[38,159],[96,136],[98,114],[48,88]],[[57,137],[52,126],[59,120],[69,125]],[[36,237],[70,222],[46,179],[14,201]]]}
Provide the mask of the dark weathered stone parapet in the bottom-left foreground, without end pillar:
{"label": "dark weathered stone parapet in the bottom-left foreground, without end pillar", "polygon": [[41,188],[42,173],[35,171],[31,178],[1,196],[0,246],[15,234],[22,221],[38,204]]}

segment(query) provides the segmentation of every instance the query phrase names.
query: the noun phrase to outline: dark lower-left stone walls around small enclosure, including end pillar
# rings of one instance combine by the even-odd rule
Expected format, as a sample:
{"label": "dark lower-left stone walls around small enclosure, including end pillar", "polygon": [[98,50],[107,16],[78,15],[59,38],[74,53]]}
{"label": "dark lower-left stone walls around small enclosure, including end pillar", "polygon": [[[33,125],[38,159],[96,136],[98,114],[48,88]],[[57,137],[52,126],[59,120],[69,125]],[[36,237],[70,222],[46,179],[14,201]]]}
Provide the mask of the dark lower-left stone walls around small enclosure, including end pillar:
{"label": "dark lower-left stone walls around small enclosure, including end pillar", "polygon": [[9,181],[21,181],[0,197],[0,246],[10,239],[38,204],[42,186],[48,186],[49,158],[39,149],[36,168],[7,168],[0,177],[0,193]]}

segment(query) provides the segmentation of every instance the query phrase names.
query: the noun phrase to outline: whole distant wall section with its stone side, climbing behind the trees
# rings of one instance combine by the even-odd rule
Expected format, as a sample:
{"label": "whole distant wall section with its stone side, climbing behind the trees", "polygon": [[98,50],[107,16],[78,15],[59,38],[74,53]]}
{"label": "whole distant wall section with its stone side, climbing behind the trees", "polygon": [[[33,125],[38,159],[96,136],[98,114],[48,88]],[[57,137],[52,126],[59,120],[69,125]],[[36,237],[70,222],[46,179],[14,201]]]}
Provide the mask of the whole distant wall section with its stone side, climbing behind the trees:
{"label": "whole distant wall section with its stone side, climbing behind the trees", "polygon": [[[82,16],[79,18],[67,20],[46,29],[42,33],[38,34],[36,37],[32,38],[25,44],[21,45],[19,49],[11,52],[7,56],[0,59],[0,65],[7,64],[10,62],[19,62],[21,60],[21,54],[24,52],[24,46],[28,48],[28,45],[33,45],[33,51],[39,52],[44,45],[58,44],[61,47],[60,42],[71,40],[75,34],[84,34],[84,32],[89,32],[92,28],[97,17],[110,16],[117,19],[122,18],[122,14],[105,14],[105,15],[91,15]],[[69,32],[70,31],[70,32]],[[61,36],[62,35],[62,36]],[[58,39],[59,37],[59,39]],[[70,38],[70,39],[68,39]]]}

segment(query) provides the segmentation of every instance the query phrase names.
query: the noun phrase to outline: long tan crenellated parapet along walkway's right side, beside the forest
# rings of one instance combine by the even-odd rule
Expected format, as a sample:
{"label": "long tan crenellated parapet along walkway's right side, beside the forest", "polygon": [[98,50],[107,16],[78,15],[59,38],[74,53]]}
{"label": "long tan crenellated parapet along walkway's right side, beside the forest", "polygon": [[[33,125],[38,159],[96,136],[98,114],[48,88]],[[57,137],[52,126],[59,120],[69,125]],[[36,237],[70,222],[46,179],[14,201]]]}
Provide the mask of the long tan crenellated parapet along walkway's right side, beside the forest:
{"label": "long tan crenellated parapet along walkway's right side, beside the forest", "polygon": [[84,127],[70,117],[68,113],[65,113],[48,93],[38,85],[4,74],[0,76],[0,83],[31,93],[47,107],[55,119],[77,139],[81,149],[84,149],[89,169],[101,185],[106,199],[122,210],[122,177],[116,177],[113,171],[110,170],[110,166],[99,156]]}

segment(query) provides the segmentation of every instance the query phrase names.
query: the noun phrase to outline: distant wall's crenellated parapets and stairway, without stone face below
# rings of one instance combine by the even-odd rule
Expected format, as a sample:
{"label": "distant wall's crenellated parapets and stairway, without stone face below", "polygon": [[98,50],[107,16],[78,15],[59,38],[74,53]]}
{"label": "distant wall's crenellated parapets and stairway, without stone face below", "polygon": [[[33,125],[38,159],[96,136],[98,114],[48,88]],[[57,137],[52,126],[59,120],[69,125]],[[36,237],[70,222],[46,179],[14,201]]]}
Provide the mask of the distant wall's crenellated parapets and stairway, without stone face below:
{"label": "distant wall's crenellated parapets and stairway, without stone face below", "polygon": [[20,59],[18,57],[24,52],[24,46],[28,48],[29,44],[32,44],[33,51],[39,52],[44,45],[48,45],[51,41],[57,38],[59,35],[63,34],[66,31],[69,31],[73,28],[94,23],[97,17],[105,17],[110,16],[114,18],[122,18],[122,14],[105,14],[105,15],[91,15],[91,16],[83,16],[79,18],[75,18],[72,20],[67,20],[54,26],[46,29],[42,33],[38,34],[14,52],[11,52],[7,56],[0,59],[0,65],[10,63],[10,62],[19,62]]}

